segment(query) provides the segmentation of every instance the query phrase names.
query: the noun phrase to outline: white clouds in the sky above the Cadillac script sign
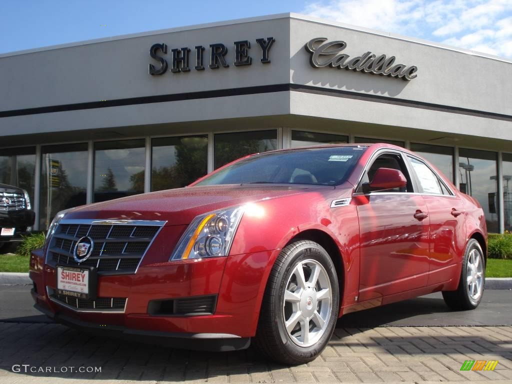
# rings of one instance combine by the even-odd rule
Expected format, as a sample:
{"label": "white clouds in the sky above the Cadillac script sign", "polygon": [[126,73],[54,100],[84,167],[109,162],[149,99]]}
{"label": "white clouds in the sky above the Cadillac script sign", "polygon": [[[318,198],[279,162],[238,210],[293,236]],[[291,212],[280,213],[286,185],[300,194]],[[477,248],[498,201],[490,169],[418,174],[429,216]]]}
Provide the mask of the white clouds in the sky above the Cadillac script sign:
{"label": "white clouds in the sky above the Cadillac script sign", "polygon": [[511,0],[330,0],[303,12],[512,57]]}

